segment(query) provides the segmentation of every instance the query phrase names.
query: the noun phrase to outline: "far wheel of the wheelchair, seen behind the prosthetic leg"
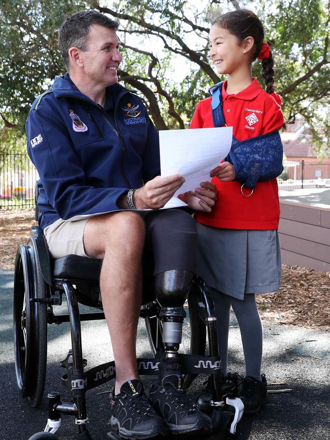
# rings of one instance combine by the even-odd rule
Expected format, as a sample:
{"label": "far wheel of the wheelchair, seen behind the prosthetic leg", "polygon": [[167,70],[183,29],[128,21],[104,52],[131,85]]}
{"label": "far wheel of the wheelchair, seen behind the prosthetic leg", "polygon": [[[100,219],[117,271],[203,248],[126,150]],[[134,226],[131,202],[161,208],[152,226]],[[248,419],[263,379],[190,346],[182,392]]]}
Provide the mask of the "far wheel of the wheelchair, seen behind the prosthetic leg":
{"label": "far wheel of the wheelchair, seen behind the prosthetic leg", "polygon": [[[182,328],[182,343],[179,353],[191,355],[204,355],[206,350],[206,324],[200,313],[200,295],[199,290],[193,283],[187,303],[187,318],[184,320]],[[186,307],[185,307],[186,308]],[[204,311],[204,309],[203,309]],[[158,352],[164,352],[162,343],[162,323],[156,317],[145,318],[147,335],[153,355]],[[196,374],[184,375],[184,388],[188,388]]]}

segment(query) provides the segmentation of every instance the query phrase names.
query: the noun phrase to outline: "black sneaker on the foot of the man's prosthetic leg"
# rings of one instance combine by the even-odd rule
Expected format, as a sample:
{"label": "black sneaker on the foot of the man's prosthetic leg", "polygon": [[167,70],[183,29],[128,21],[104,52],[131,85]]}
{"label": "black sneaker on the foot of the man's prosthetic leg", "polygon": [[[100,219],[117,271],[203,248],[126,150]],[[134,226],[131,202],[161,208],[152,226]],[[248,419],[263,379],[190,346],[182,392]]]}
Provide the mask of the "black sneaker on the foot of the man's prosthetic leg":
{"label": "black sneaker on the foot of the man's prosthetic leg", "polygon": [[150,390],[149,399],[152,406],[167,421],[173,434],[211,431],[211,419],[187,398],[182,385],[181,375],[165,376],[161,386],[153,385]]}

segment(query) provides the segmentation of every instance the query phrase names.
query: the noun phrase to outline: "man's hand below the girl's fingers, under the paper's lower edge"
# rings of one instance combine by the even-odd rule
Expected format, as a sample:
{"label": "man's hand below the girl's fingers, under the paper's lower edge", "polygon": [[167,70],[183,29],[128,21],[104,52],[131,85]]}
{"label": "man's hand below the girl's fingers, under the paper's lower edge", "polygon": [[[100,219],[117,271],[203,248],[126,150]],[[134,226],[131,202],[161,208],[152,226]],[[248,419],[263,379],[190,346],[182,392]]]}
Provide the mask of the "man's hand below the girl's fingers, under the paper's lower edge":
{"label": "man's hand below the girl's fingers, under the paper's lower edge", "polygon": [[200,188],[180,194],[178,199],[185,202],[195,211],[211,212],[216,200],[218,190],[211,182],[202,182]]}

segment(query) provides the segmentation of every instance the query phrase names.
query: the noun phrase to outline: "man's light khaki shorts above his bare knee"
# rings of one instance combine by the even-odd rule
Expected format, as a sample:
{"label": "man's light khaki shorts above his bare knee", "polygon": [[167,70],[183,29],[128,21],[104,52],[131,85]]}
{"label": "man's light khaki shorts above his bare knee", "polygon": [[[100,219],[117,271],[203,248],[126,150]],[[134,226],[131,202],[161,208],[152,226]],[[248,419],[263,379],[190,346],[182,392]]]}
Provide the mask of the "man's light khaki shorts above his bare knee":
{"label": "man's light khaki shorts above his bare knee", "polygon": [[88,257],[84,249],[84,229],[89,218],[71,222],[59,218],[44,229],[50,255],[61,258],[65,255],[80,255]]}

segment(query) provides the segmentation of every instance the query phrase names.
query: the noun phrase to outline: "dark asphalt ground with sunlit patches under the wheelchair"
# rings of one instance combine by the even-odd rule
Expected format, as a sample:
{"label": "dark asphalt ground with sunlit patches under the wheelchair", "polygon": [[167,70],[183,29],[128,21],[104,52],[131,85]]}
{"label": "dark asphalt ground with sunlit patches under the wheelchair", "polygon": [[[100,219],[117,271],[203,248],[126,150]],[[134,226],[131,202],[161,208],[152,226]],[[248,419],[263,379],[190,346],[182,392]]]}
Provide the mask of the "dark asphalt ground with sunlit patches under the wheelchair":
{"label": "dark asphalt ground with sunlit patches under the wheelchair", "polygon": [[[12,331],[13,271],[0,269],[0,440],[28,440],[42,431],[47,422],[47,399],[40,408],[31,408],[16,388]],[[56,311],[56,310],[55,310]],[[239,424],[237,440],[330,440],[330,333],[287,325],[264,324],[265,347],[262,369],[269,383],[285,383],[275,388],[291,388],[288,394],[270,394],[258,415],[246,416]],[[232,317],[229,332],[229,370],[244,373],[240,332]],[[103,321],[82,323],[84,357],[88,368],[112,360],[108,330]],[[59,391],[69,401],[60,383],[59,362],[70,349],[69,324],[48,326],[48,363],[45,394]],[[138,356],[151,356],[144,322],[139,324]],[[144,376],[150,389],[155,376]],[[200,375],[188,390],[195,399],[206,377]],[[93,440],[108,438],[109,394],[113,382],[87,394],[89,431]],[[63,416],[57,432],[60,440],[73,440],[73,417]],[[215,437],[210,437],[215,438]]]}

